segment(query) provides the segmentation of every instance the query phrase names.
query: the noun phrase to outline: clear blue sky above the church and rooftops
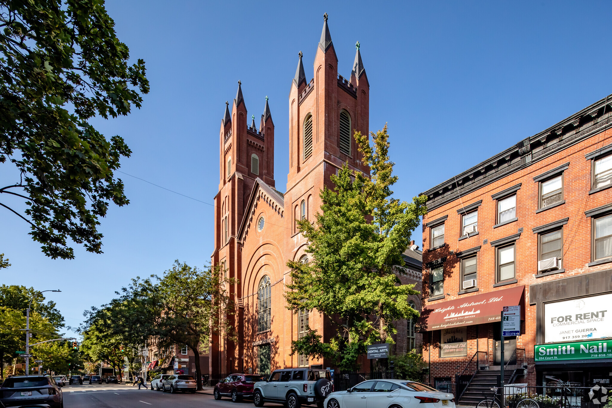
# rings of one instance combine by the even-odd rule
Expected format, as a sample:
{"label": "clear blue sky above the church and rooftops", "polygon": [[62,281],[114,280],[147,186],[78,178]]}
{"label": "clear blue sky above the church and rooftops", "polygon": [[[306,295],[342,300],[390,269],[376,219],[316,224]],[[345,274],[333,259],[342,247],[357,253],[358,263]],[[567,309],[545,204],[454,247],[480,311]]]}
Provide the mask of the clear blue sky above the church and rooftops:
{"label": "clear blue sky above the church and rooftops", "polygon": [[[238,80],[249,116],[259,118],[269,97],[276,185],[285,191],[289,86],[300,50],[312,78],[324,12],[340,75],[349,76],[361,44],[370,130],[389,123],[401,199],[612,92],[609,1],[110,0],[106,8],[133,59],[146,61],[151,92],[140,111],[95,126],[133,150],[122,171],[208,203],[218,187],[219,124]],[[0,212],[0,253],[12,263],[1,283],[61,289],[48,299],[75,326],[134,276],[161,274],[174,259],[209,261],[212,206],[117,175],[131,204],[102,220],[104,254],[76,245],[72,261],[46,258],[26,223]],[[0,183],[13,179],[3,167]]]}

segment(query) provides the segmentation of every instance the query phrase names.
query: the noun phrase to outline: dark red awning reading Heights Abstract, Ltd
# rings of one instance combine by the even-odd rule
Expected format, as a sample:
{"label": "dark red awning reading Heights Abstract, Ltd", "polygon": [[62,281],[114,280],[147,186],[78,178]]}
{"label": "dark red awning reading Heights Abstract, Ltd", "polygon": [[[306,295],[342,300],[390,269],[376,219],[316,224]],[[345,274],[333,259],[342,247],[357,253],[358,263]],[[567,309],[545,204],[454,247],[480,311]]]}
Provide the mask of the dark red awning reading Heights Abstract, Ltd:
{"label": "dark red awning reading Heights Abstract, Ltd", "polygon": [[425,305],[417,327],[420,332],[447,327],[468,326],[500,321],[504,306],[521,306],[525,318],[525,287],[515,286],[447,302]]}

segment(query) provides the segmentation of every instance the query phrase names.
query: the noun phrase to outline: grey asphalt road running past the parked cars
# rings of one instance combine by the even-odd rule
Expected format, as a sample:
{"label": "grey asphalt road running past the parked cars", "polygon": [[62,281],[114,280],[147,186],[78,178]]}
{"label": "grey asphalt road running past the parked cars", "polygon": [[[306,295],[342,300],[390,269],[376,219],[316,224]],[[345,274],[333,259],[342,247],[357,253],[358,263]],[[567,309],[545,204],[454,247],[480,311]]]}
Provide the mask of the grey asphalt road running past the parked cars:
{"label": "grey asphalt road running past the parked cars", "polygon": [[[230,398],[215,401],[212,390],[190,393],[163,393],[148,388],[132,387],[123,384],[101,385],[66,385],[62,387],[64,394],[64,408],[168,408],[180,406],[181,408],[201,407],[253,407],[253,401],[245,399],[238,404],[231,402]],[[267,402],[264,407],[281,407],[280,404]]]}

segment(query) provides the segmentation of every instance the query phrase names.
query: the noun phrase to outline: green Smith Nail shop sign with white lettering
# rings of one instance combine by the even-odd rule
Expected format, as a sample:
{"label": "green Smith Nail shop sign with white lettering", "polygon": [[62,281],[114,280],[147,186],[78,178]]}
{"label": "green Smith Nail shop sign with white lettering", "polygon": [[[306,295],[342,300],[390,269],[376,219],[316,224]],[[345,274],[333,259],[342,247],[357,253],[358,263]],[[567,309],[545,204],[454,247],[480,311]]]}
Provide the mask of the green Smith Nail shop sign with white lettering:
{"label": "green Smith Nail shop sign with white lettering", "polygon": [[612,358],[612,340],[542,344],[534,346],[534,357],[536,362]]}

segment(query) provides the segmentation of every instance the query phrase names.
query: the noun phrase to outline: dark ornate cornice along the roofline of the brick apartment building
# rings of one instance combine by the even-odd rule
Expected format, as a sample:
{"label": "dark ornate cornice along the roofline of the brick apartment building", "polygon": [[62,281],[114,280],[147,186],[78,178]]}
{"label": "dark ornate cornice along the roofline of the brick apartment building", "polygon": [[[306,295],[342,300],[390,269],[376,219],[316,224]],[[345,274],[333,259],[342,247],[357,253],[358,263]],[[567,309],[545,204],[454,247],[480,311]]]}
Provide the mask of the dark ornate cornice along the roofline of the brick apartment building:
{"label": "dark ornate cornice along the roofline of the brick apartment building", "polygon": [[612,127],[612,95],[425,191],[429,211]]}

